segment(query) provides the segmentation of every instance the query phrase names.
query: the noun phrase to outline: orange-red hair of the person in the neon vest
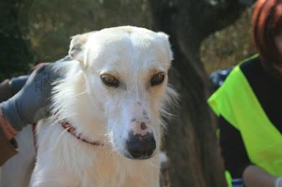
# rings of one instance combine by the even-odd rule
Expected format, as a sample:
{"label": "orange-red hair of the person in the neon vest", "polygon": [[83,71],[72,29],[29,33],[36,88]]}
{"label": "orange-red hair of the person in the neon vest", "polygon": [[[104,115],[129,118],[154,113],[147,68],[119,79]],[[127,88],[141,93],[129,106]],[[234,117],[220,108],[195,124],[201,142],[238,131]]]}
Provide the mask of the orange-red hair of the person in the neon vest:
{"label": "orange-red hair of the person in the neon vest", "polygon": [[281,74],[282,54],[275,37],[282,34],[282,1],[258,0],[252,15],[252,30],[262,64],[266,70]]}

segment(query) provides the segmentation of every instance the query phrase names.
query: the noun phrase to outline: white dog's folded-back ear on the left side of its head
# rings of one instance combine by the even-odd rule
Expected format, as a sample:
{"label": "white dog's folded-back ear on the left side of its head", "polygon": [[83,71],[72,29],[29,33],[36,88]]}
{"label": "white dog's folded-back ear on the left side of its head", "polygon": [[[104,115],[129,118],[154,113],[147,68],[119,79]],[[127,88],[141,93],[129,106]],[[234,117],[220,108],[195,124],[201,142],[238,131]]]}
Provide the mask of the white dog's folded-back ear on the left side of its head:
{"label": "white dog's folded-back ear on the left side of its head", "polygon": [[[94,31],[95,32],[95,31]],[[87,32],[85,34],[78,34],[71,37],[70,49],[68,50],[68,56],[73,58],[74,60],[78,60],[82,69],[85,69],[85,43],[90,36],[94,32]]]}

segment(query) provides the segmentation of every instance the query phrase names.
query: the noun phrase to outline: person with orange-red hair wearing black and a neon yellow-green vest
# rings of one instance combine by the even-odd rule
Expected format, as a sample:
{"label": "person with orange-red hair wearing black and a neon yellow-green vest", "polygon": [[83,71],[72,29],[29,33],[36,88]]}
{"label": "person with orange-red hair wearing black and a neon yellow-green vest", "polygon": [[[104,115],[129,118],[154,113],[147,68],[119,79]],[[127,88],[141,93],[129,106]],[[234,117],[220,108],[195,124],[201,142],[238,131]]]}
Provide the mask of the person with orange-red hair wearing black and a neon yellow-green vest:
{"label": "person with orange-red hair wearing black and a neon yellow-green vest", "polygon": [[209,98],[226,169],[247,187],[282,187],[282,1],[258,0],[258,55],[239,63]]}

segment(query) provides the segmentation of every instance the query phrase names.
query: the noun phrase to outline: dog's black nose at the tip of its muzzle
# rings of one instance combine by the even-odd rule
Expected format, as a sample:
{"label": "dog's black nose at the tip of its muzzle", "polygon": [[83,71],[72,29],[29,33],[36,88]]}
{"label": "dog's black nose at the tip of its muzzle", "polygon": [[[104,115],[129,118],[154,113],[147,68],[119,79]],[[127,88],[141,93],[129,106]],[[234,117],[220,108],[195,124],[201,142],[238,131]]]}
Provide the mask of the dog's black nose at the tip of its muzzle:
{"label": "dog's black nose at the tip of its muzzle", "polygon": [[127,150],[133,158],[146,159],[151,157],[156,149],[156,141],[154,135],[147,132],[144,136],[141,134],[133,134],[130,131],[128,134],[128,141],[126,142]]}

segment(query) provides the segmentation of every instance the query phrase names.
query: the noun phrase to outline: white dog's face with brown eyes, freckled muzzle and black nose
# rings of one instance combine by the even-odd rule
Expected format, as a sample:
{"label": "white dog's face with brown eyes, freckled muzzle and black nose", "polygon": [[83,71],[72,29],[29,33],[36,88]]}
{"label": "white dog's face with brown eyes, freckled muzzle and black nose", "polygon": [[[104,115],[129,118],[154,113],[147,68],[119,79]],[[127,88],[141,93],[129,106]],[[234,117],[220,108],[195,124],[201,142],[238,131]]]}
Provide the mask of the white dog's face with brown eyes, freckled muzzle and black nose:
{"label": "white dog's face with brown eyes, freckled muzzle and black nose", "polygon": [[160,112],[172,60],[166,34],[114,27],[73,37],[69,54],[80,61],[92,105],[99,105],[114,150],[152,157],[161,139]]}

